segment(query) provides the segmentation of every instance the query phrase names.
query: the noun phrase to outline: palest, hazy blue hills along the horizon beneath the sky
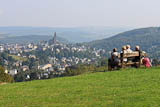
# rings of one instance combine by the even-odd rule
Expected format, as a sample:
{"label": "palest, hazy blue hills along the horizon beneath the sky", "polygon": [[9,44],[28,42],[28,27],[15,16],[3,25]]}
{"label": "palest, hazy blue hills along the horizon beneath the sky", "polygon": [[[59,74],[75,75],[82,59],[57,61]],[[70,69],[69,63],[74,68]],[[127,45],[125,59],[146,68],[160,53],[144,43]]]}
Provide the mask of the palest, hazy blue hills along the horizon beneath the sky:
{"label": "palest, hazy blue hills along the horizon beneath the sky", "polygon": [[[116,27],[0,27],[0,34],[8,36],[24,36],[24,35],[54,35],[69,40],[70,42],[89,42],[92,40],[111,37],[120,32],[124,32],[129,28]],[[1,36],[0,36],[1,37]]]}

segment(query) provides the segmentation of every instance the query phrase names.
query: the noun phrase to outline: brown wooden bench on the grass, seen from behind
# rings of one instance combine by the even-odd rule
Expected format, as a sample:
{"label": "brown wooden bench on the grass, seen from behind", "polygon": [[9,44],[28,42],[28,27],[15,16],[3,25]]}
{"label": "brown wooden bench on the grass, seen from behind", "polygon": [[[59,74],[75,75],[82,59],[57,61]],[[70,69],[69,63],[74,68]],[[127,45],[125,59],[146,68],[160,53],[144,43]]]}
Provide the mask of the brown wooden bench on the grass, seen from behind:
{"label": "brown wooden bench on the grass, seen from behind", "polygon": [[[141,51],[134,51],[132,53],[120,53],[118,55],[119,63],[113,65],[114,62],[108,62],[108,70],[113,70],[115,68],[125,68],[125,67],[136,67],[139,68],[142,64],[142,56],[145,56],[145,53]],[[127,61],[125,61],[127,59]]]}

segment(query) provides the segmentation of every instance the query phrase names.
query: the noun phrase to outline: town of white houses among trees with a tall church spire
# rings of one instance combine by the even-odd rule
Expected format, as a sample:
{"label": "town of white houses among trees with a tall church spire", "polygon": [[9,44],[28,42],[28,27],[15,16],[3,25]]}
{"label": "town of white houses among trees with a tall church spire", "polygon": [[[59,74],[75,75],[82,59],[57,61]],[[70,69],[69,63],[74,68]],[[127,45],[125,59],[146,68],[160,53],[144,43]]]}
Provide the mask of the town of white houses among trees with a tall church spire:
{"label": "town of white houses among trees with a tall church spire", "polygon": [[61,76],[67,67],[97,64],[106,55],[104,49],[60,43],[56,40],[56,33],[52,40],[38,44],[0,44],[0,52],[5,73],[13,77],[23,74],[24,80]]}

